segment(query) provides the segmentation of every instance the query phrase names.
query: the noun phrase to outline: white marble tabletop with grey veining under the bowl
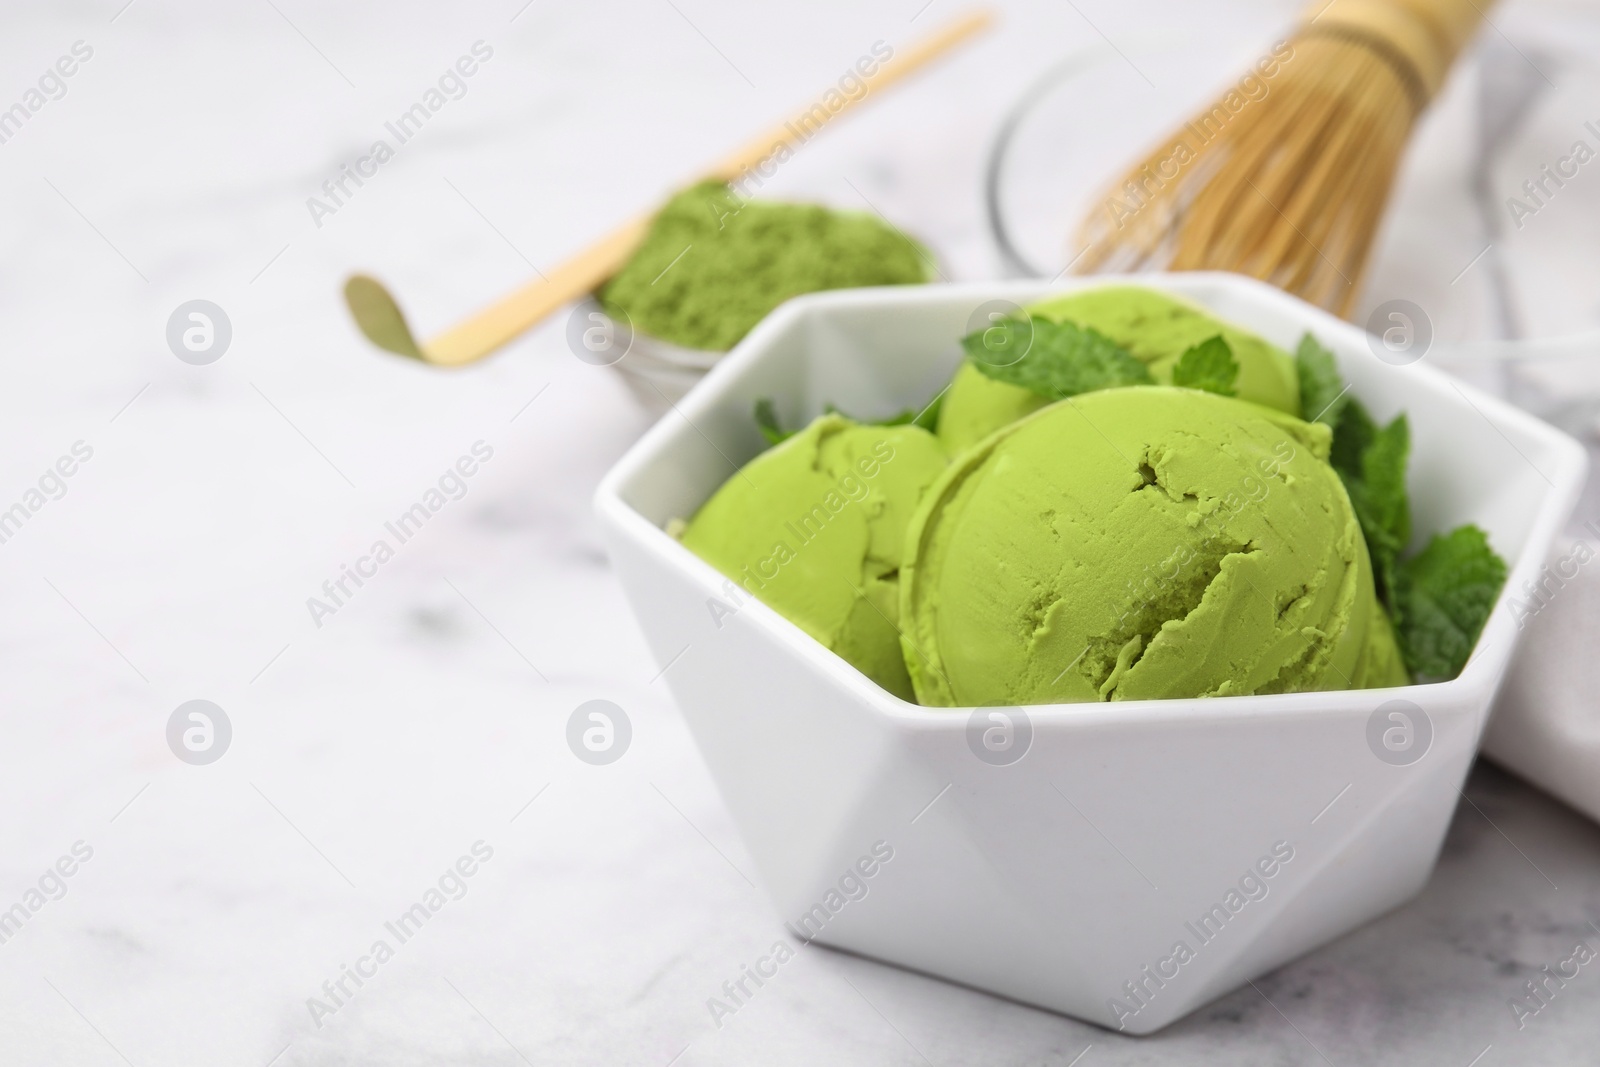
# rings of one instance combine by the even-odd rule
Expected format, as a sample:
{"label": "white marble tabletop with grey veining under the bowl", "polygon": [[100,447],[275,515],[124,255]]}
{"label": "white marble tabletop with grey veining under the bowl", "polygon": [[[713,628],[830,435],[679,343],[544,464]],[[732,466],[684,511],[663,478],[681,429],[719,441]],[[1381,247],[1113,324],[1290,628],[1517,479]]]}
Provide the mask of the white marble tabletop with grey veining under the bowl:
{"label": "white marble tabletop with grey veining under the bowl", "polygon": [[[992,277],[982,150],[1037,70],[1165,21],[1221,75],[1294,6],[1006,5],[771,190],[880,210],[952,277]],[[1154,1038],[818,949],[712,1022],[779,921],[589,514],[650,416],[560,320],[445,374],[371,350],[336,294],[370,269],[430,333],[952,10],[6,8],[0,107],[77,42],[91,54],[0,142],[0,510],[27,510],[0,542],[0,918],[26,915],[0,942],[0,1062],[1592,1057],[1600,973],[1522,1030],[1507,1001],[1600,945],[1600,829],[1491,768],[1422,897]],[[314,218],[307,198],[475,42],[493,54],[459,99]],[[190,299],[232,325],[203,366],[166,342]],[[387,534],[475,445],[491,456],[446,480],[459,499]],[[394,557],[314,616],[384,537]],[[194,699],[232,726],[203,766],[166,736]],[[566,747],[589,699],[634,723],[614,765]],[[387,933],[440,886],[421,929]],[[362,963],[379,939],[392,958]]]}

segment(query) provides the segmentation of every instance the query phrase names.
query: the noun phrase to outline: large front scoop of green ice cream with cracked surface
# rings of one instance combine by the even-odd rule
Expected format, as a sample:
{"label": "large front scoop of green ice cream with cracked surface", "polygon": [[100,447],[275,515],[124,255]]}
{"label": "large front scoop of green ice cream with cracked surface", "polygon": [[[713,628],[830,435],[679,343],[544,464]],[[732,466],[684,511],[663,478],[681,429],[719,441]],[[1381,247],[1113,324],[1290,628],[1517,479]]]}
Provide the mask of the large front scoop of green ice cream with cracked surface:
{"label": "large front scoop of green ice cream with cracked surface", "polygon": [[1325,426],[1270,408],[1139,386],[966,451],[907,531],[918,701],[1405,685],[1328,445]]}

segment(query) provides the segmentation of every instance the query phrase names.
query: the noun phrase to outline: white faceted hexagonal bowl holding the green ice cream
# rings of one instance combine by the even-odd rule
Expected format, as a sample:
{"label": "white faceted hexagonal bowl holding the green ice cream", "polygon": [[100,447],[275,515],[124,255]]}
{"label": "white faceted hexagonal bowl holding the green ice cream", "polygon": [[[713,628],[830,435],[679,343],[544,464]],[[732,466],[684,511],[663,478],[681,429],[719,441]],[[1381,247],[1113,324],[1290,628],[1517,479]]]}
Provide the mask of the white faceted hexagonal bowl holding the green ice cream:
{"label": "white faceted hexagonal bowl holding the green ice cream", "polygon": [[[795,933],[1149,1033],[1422,888],[1517,645],[1504,598],[1454,681],[1029,707],[1030,749],[994,766],[968,745],[971,709],[890,696],[758,601],[714,611],[734,606],[726,579],[664,533],[763,448],[750,419],[758,397],[776,398],[789,424],[824,402],[861,416],[922,405],[957,366],[979,304],[1107,280],[784,304],[610,472],[597,512],[666,681]],[[1576,442],[1426,362],[1379,362],[1357,328],[1258,282],[1130,280],[1286,349],[1315,333],[1374,416],[1410,416],[1419,537],[1478,523],[1510,563],[1509,587],[1544,563],[1582,483]],[[1426,715],[1414,736],[1430,725],[1406,765],[1368,742],[1392,699]],[[1386,715],[1379,733],[1402,729],[1392,737],[1403,744],[1405,723]],[[848,877],[875,845],[893,857],[862,864],[870,878]],[[1272,862],[1274,849],[1293,859]],[[1261,869],[1272,877],[1248,877]]]}

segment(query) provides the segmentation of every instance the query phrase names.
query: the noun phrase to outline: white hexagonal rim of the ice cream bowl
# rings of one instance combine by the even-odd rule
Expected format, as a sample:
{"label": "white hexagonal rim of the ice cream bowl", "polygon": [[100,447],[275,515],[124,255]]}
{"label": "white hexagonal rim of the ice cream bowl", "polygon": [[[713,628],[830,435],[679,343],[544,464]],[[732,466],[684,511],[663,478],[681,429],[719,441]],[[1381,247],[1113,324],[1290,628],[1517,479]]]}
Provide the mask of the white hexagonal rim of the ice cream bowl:
{"label": "white hexagonal rim of the ice cream bowl", "polygon": [[[694,418],[709,414],[717,408],[726,387],[738,381],[744,368],[765,357],[768,339],[802,320],[813,309],[827,307],[872,307],[885,302],[894,304],[936,304],[949,299],[1011,299],[1027,304],[1046,296],[1078,291],[1101,285],[1142,285],[1163,290],[1186,299],[1195,299],[1192,293],[1206,288],[1234,288],[1246,293],[1251,299],[1278,304],[1280,309],[1307,323],[1307,330],[1315,330],[1323,339],[1334,334],[1344,344],[1365,344],[1365,331],[1358,326],[1336,318],[1334,315],[1283,293],[1256,278],[1226,272],[1181,272],[1181,274],[1104,274],[1067,278],[1027,278],[1002,282],[958,282],[930,283],[920,286],[877,286],[859,290],[829,290],[808,293],[781,304],[763,318],[744,339],[739,341],[707,376],[670,411],[664,414],[632,448],[605,474],[595,490],[595,515],[603,525],[611,526],[618,534],[626,536],[638,549],[648,552],[662,566],[678,571],[691,579],[694,585],[710,595],[720,595],[723,582],[731,581],[706,560],[690,552],[677,537],[637,512],[622,494],[640,469],[656,461],[658,453],[674,437],[674,419],[686,421],[691,427]],[[1510,653],[1517,640],[1515,627],[1504,609],[1506,601],[1518,579],[1531,576],[1542,566],[1546,555],[1558,536],[1566,517],[1578,502],[1587,472],[1587,451],[1576,440],[1541,419],[1493,397],[1474,386],[1459,381],[1443,371],[1427,366],[1422,362],[1406,368],[1429,382],[1435,390],[1453,390],[1461,394],[1462,411],[1475,408],[1496,430],[1504,435],[1502,426],[1510,426],[1522,434],[1541,438],[1555,458],[1554,470],[1534,467],[1550,485],[1550,493],[1539,506],[1539,512],[1530,525],[1523,550],[1507,560],[1507,577],[1501,589],[1490,617],[1478,635],[1477,643],[1461,673],[1450,681],[1411,683],[1405,686],[1389,686],[1382,689],[1325,689],[1314,693],[1282,693],[1282,694],[1248,694],[1222,697],[1173,697],[1146,701],[1114,701],[1114,702],[1077,702],[1077,704],[1026,704],[1021,710],[1034,728],[1040,726],[1072,726],[1102,728],[1125,725],[1205,725],[1248,723],[1270,717],[1302,718],[1328,713],[1365,715],[1397,697],[1416,697],[1429,709],[1445,712],[1462,707],[1475,709],[1486,705],[1488,697],[1504,677]],[[1507,443],[1509,438],[1507,438]],[[1515,445],[1512,445],[1515,448]],[[1531,462],[1531,461],[1530,461]],[[1014,705],[962,705],[962,707],[926,707],[914,704],[888,693],[875,681],[861,673],[843,657],[824,648],[810,633],[802,630],[778,611],[755,597],[749,597],[739,608],[739,614],[749,613],[752,625],[766,632],[774,643],[786,651],[802,657],[813,669],[821,670],[834,685],[850,691],[859,701],[867,702],[877,713],[899,725],[918,731],[958,731],[965,729],[968,718],[981,709],[1006,709]],[[1510,638],[1506,641],[1504,638]],[[1358,707],[1352,707],[1357,704]],[[1478,723],[1482,729],[1483,723]]]}

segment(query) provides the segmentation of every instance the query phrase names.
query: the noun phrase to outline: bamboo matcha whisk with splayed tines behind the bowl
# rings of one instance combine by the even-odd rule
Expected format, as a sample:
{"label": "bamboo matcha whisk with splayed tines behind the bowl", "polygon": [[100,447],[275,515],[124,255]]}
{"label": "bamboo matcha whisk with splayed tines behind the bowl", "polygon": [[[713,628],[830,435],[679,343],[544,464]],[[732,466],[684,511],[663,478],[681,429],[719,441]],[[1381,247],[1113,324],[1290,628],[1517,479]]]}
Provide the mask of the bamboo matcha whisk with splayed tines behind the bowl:
{"label": "bamboo matcha whisk with splayed tines behind the bowl", "polygon": [[1075,270],[1234,270],[1341,315],[1411,125],[1493,0],[1331,0],[1085,219]]}

